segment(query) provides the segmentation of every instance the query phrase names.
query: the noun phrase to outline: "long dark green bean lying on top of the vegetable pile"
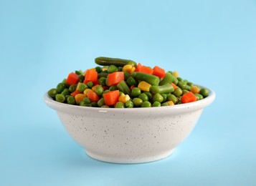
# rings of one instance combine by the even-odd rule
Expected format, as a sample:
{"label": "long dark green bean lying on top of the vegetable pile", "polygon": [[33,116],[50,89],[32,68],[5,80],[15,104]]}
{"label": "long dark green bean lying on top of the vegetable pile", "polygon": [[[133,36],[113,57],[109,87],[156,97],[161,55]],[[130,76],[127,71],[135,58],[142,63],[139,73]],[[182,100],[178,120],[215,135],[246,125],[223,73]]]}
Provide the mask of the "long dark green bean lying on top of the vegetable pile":
{"label": "long dark green bean lying on top of the vegetable pile", "polygon": [[136,62],[133,62],[130,59],[118,59],[110,57],[97,57],[95,58],[95,63],[102,66],[115,65],[116,67],[123,67],[126,64],[131,64],[133,67],[137,66]]}

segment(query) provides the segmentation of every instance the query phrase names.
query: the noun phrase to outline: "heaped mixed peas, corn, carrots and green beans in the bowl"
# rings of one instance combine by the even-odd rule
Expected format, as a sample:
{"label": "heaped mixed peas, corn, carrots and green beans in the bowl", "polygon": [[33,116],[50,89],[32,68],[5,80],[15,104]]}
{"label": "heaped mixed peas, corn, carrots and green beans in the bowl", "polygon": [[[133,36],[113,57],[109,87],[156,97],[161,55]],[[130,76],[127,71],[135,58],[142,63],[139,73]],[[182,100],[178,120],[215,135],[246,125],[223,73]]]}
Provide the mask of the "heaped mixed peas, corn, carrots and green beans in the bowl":
{"label": "heaped mixed peas, corn, carrots and green beans in the bowl", "polygon": [[71,72],[48,91],[57,102],[85,107],[161,107],[204,99],[209,90],[179,77],[127,59],[98,57],[101,67]]}

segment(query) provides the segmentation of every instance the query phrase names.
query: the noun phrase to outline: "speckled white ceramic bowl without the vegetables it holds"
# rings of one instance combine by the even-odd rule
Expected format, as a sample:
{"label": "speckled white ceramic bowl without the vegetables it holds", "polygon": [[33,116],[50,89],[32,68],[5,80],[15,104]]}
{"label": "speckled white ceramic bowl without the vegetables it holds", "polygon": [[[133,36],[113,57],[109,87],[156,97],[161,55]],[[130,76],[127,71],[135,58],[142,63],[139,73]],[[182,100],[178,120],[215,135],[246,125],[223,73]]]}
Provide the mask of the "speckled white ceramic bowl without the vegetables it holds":
{"label": "speckled white ceramic bowl without the vegetables it holds", "polygon": [[115,163],[142,163],[171,155],[191,133],[215,93],[197,102],[168,107],[97,108],[62,104],[44,95],[67,132],[87,155]]}

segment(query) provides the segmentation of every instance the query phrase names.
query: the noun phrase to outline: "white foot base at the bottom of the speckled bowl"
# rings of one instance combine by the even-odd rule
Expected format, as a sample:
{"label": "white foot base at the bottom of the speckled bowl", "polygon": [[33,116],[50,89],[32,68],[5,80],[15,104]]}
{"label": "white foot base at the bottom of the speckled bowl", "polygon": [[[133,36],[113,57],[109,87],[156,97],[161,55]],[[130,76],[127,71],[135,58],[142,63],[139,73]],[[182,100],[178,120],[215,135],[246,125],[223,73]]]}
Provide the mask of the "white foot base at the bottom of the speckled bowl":
{"label": "white foot base at the bottom of the speckled bowl", "polygon": [[97,152],[92,152],[85,150],[86,154],[101,162],[110,162],[110,163],[118,163],[118,164],[136,164],[136,163],[146,163],[146,162],[154,162],[158,160],[163,160],[166,157],[169,157],[174,149],[161,153],[159,155],[151,155],[151,156],[114,156],[114,155],[101,155]]}

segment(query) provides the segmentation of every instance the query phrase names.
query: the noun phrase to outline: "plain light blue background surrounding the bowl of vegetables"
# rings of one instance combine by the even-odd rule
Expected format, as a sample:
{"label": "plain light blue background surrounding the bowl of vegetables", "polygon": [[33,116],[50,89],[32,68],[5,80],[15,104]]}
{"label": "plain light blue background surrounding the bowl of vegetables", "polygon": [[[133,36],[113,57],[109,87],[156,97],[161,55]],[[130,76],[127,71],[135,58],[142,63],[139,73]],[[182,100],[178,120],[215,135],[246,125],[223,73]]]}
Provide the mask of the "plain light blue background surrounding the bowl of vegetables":
{"label": "plain light blue background surrounding the bowl of vegetables", "polygon": [[[43,94],[95,57],[178,70],[217,93],[158,162],[90,159]],[[0,1],[0,185],[256,185],[256,1]]]}

